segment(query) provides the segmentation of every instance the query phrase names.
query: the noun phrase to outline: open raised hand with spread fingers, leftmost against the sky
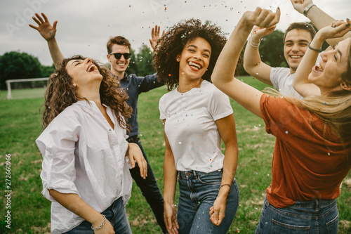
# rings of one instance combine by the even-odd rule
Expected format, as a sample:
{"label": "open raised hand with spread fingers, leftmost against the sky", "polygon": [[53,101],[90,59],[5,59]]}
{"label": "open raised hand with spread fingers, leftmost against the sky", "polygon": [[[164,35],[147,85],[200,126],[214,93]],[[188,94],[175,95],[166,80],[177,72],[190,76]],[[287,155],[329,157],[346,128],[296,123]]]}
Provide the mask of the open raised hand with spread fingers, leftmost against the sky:
{"label": "open raised hand with spread fingers, leftmost against the sky", "polygon": [[55,38],[56,25],[58,24],[58,21],[56,20],[53,22],[53,25],[51,25],[50,22],[48,22],[46,15],[44,13],[41,13],[41,15],[43,16],[44,20],[38,13],[35,13],[35,16],[37,16],[37,18],[34,16],[32,17],[32,19],[37,22],[38,27],[35,27],[34,25],[29,25],[29,27],[37,30],[41,34],[41,37],[44,37],[46,41],[50,41]]}

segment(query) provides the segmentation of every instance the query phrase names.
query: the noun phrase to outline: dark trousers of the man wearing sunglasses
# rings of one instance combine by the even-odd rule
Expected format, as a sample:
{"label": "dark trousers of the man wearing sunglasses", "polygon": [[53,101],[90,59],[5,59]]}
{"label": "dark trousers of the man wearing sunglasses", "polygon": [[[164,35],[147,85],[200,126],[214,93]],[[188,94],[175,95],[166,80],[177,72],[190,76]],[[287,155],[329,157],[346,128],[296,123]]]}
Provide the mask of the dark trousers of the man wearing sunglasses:
{"label": "dark trousers of the man wearing sunglasses", "polygon": [[135,167],[130,170],[131,176],[133,177],[137,186],[140,188],[141,193],[143,193],[147,203],[149,203],[152,212],[154,212],[154,216],[157,223],[159,223],[162,232],[167,233],[166,224],[164,224],[164,198],[161,195],[161,191],[159,190],[156,178],[154,177],[154,172],[152,171],[150,163],[147,160],[143,146],[141,145],[138,137],[134,137],[133,141],[131,141],[131,138],[128,138],[127,141],[139,145],[141,152],[143,152],[144,158],[147,162],[147,177],[143,179],[140,176],[140,167],[138,164],[135,164]]}

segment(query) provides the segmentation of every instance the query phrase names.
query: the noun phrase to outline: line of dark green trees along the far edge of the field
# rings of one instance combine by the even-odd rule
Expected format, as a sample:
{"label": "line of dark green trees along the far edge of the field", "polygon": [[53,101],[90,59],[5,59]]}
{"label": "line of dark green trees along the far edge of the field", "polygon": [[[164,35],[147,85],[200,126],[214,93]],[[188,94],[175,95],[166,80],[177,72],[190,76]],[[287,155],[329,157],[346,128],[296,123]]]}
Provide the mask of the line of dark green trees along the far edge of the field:
{"label": "line of dark green trees along the far edge of the field", "polygon": [[[260,56],[263,63],[272,67],[288,67],[284,58],[284,32],[275,30],[272,34],[264,37],[260,43]],[[246,46],[246,45],[245,45]],[[325,49],[327,44],[323,46]],[[244,47],[245,49],[245,47]],[[244,54],[244,49],[242,54]],[[150,46],[140,46],[138,53],[131,48],[131,61],[126,72],[128,74],[137,74],[138,76],[145,76],[146,74],[153,74],[155,72],[152,66],[152,50]],[[106,64],[110,67],[109,64]],[[5,81],[7,79],[26,79],[37,77],[49,77],[51,73],[55,72],[55,66],[41,65],[38,58],[29,55],[28,53],[20,53],[18,51],[6,52],[0,56],[0,89],[6,89]],[[244,68],[241,67],[241,75],[247,75]],[[34,85],[44,86],[43,84],[34,82],[27,84],[15,83],[17,87],[14,88],[32,88]]]}

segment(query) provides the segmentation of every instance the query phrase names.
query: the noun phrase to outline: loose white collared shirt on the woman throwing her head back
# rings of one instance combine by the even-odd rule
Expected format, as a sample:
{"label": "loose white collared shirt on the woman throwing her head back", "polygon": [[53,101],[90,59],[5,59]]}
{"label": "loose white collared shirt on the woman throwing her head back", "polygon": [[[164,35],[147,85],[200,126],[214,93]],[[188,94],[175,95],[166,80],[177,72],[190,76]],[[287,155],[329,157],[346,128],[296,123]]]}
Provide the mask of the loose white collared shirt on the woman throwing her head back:
{"label": "loose white collared shirt on the woman throwing her head back", "polygon": [[132,179],[124,157],[126,131],[107,107],[108,124],[97,105],[80,100],[70,105],[37,138],[44,157],[41,180],[44,197],[51,200],[51,232],[65,233],[84,221],[55,201],[48,189],[75,193],[98,212],[122,197],[131,197]]}

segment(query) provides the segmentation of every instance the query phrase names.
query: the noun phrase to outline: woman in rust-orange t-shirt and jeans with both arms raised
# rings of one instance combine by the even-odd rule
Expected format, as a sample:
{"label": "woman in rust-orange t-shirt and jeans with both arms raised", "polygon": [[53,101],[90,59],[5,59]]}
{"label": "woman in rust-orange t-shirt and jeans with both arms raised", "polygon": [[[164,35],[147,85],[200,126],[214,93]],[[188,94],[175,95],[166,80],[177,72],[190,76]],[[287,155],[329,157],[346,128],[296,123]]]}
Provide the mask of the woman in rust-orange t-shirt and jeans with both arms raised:
{"label": "woman in rust-orange t-shirt and jeans with both arms raised", "polygon": [[234,78],[232,66],[253,26],[272,27],[279,17],[279,8],[244,13],[218,58],[213,84],[262,118],[276,137],[272,183],[255,233],[338,233],[336,197],[351,168],[351,39],[315,63],[323,41],[342,37],[351,21],[333,22],[308,44],[294,77],[294,89],[306,96],[300,100]]}

